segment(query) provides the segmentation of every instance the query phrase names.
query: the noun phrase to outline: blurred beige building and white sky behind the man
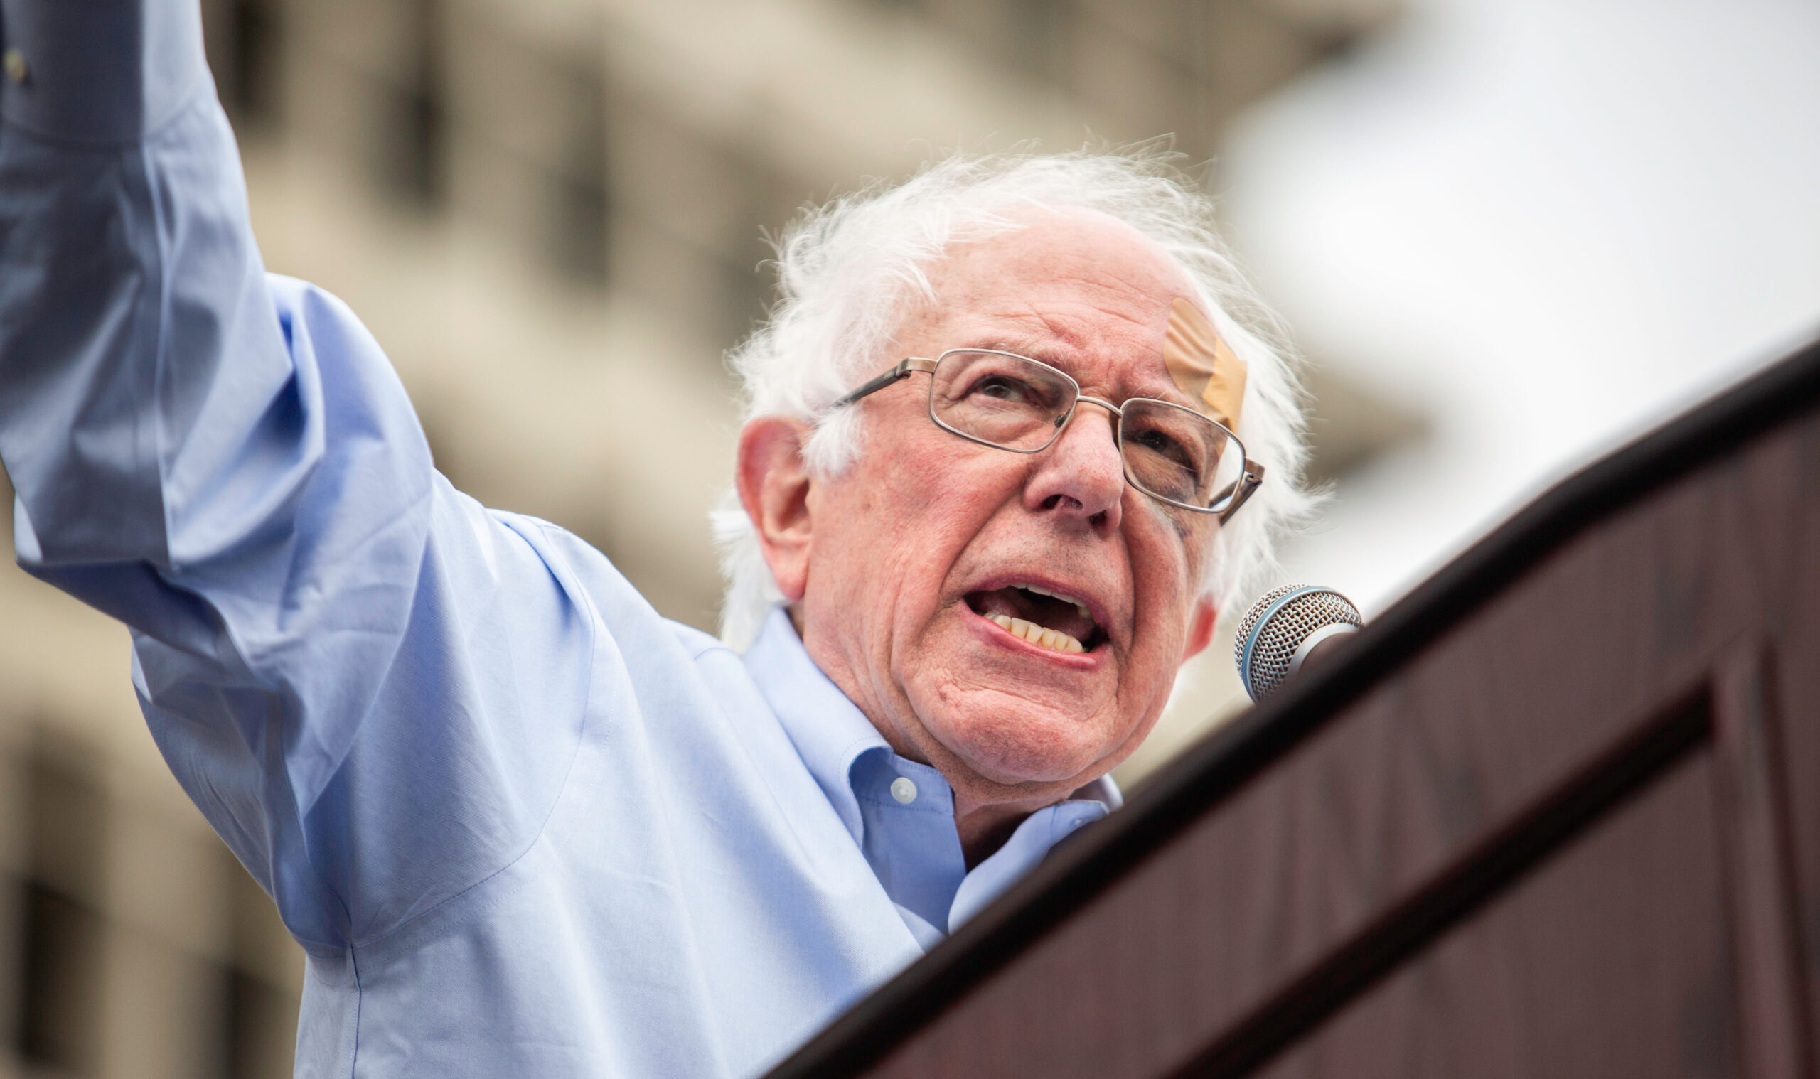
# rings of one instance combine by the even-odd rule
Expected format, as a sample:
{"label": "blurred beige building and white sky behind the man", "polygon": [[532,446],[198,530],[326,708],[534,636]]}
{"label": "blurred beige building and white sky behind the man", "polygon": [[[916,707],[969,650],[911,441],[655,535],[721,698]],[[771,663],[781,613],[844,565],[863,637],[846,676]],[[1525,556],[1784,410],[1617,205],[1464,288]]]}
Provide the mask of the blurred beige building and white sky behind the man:
{"label": "blurred beige building and white sky behind the man", "polygon": [[[1793,0],[204,9],[268,266],[362,315],[457,486],[710,630],[764,233],[946,147],[1218,158],[1334,484],[1289,568],[1367,613],[1820,313],[1820,16]],[[0,570],[0,1077],[286,1075],[298,955],[126,671],[118,626]],[[1223,639],[1121,779],[1238,704]]]}

